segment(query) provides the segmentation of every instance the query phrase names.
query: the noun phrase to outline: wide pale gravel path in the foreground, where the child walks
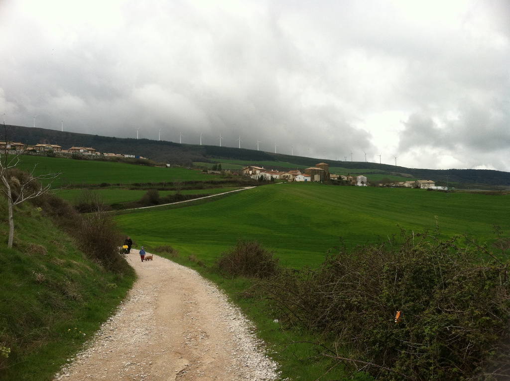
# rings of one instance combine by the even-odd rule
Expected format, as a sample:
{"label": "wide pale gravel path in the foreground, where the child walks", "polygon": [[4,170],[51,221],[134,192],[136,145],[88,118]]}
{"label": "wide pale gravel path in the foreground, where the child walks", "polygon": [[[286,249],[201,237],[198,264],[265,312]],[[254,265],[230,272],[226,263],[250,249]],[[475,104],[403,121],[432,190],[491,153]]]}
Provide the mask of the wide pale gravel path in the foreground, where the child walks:
{"label": "wide pale gravel path in the foreground, where the child walks", "polygon": [[274,380],[250,323],[197,272],[127,256],[139,279],[92,344],[55,380]]}

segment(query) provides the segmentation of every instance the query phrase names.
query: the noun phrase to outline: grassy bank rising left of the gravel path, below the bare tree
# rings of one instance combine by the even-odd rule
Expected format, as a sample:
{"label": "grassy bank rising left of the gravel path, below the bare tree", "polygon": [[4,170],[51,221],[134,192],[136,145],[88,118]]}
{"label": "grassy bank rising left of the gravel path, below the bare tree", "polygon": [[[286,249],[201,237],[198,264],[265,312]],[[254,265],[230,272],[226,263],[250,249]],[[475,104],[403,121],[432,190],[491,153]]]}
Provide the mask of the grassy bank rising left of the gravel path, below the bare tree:
{"label": "grassy bank rising left of the gravel path, below the bare tree", "polygon": [[3,201],[0,346],[11,354],[0,358],[0,379],[50,380],[114,311],[134,274],[106,273],[29,205],[17,210],[14,247],[7,249],[5,209]]}

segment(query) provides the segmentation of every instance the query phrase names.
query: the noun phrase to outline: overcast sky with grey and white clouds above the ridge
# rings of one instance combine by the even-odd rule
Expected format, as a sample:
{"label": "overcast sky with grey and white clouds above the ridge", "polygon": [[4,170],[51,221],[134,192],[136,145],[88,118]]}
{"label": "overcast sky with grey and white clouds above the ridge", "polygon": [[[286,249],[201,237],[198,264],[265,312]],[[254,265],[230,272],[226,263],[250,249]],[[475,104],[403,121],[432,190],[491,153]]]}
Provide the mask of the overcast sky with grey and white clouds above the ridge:
{"label": "overcast sky with grey and white clouds above the ridge", "polygon": [[0,0],[0,115],[510,171],[510,1]]}

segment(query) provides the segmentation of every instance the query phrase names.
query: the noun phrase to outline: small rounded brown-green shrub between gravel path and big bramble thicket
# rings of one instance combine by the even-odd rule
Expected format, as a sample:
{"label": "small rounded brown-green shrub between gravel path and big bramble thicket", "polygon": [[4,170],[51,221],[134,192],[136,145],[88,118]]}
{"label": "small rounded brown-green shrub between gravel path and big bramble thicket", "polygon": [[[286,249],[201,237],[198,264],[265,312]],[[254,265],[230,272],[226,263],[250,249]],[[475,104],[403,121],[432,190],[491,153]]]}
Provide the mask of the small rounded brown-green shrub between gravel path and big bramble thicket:
{"label": "small rounded brown-green shrub between gravel path and big bramble thicket", "polygon": [[257,241],[240,239],[235,247],[221,253],[216,266],[224,275],[266,278],[278,272],[278,259],[274,258],[274,251]]}

